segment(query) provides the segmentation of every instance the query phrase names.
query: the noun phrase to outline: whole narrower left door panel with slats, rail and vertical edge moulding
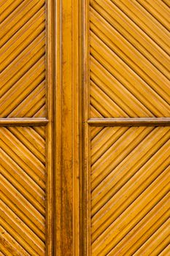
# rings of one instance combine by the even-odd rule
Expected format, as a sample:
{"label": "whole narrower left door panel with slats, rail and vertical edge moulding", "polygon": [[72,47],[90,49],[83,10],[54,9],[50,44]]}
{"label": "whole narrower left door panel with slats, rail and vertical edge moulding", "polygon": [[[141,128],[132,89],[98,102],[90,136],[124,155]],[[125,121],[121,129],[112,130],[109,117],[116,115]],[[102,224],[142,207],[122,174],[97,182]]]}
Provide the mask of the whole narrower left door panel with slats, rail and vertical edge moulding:
{"label": "whole narrower left door panel with slats, rail and vertical edge moulding", "polygon": [[52,255],[52,1],[0,5],[0,251]]}

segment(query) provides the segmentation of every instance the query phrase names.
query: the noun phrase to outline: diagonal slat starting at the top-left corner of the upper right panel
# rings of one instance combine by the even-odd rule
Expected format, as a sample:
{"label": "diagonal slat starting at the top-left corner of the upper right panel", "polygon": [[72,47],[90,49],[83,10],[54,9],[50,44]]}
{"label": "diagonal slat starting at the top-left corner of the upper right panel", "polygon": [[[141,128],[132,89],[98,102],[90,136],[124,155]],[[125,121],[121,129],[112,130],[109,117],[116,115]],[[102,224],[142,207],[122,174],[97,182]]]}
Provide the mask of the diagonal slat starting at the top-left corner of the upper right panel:
{"label": "diagonal slat starting at the top-left corner of the upper right panel", "polygon": [[[134,20],[128,18],[112,1],[90,1],[91,6],[109,22],[120,34],[134,45],[148,60],[161,69],[161,72],[169,70],[169,56],[150,38],[136,26]],[[107,10],[107,11],[106,11]],[[114,15],[112,15],[114,13]]]}

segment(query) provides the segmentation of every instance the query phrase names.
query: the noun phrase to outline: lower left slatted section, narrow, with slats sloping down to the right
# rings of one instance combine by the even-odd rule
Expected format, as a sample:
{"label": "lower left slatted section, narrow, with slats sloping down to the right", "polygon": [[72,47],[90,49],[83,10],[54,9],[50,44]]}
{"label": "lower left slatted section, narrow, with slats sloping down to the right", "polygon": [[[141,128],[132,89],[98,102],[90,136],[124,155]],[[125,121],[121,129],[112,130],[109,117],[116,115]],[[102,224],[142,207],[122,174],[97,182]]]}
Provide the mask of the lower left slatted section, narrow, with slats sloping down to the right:
{"label": "lower left slatted section, narrow, with slats sloping down to the right", "polygon": [[34,127],[1,127],[0,138],[1,252],[45,255],[45,139]]}

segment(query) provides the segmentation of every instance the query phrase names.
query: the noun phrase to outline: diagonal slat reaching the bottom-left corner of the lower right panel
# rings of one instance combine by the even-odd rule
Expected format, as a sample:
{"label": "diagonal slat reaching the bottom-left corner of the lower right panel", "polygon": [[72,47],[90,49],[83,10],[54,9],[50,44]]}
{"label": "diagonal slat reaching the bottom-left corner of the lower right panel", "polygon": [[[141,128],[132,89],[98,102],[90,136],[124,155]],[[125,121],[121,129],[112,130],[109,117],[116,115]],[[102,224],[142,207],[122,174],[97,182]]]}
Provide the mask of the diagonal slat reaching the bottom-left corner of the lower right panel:
{"label": "diagonal slat reaching the bottom-left corner of the lower right panel", "polygon": [[[107,254],[169,192],[169,168],[93,242],[93,254]],[[104,243],[103,243],[104,241]]]}

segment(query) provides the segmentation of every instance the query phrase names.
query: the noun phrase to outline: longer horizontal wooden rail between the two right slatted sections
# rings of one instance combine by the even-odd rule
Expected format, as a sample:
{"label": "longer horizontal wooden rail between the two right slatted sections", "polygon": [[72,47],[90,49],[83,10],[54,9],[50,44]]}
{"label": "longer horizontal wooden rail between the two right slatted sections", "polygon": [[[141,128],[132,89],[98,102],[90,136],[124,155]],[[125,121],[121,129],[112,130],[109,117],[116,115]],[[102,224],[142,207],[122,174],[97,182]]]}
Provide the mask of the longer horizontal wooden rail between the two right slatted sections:
{"label": "longer horizontal wooden rail between the two right slatted sections", "polygon": [[170,126],[170,118],[90,118],[92,127]]}

